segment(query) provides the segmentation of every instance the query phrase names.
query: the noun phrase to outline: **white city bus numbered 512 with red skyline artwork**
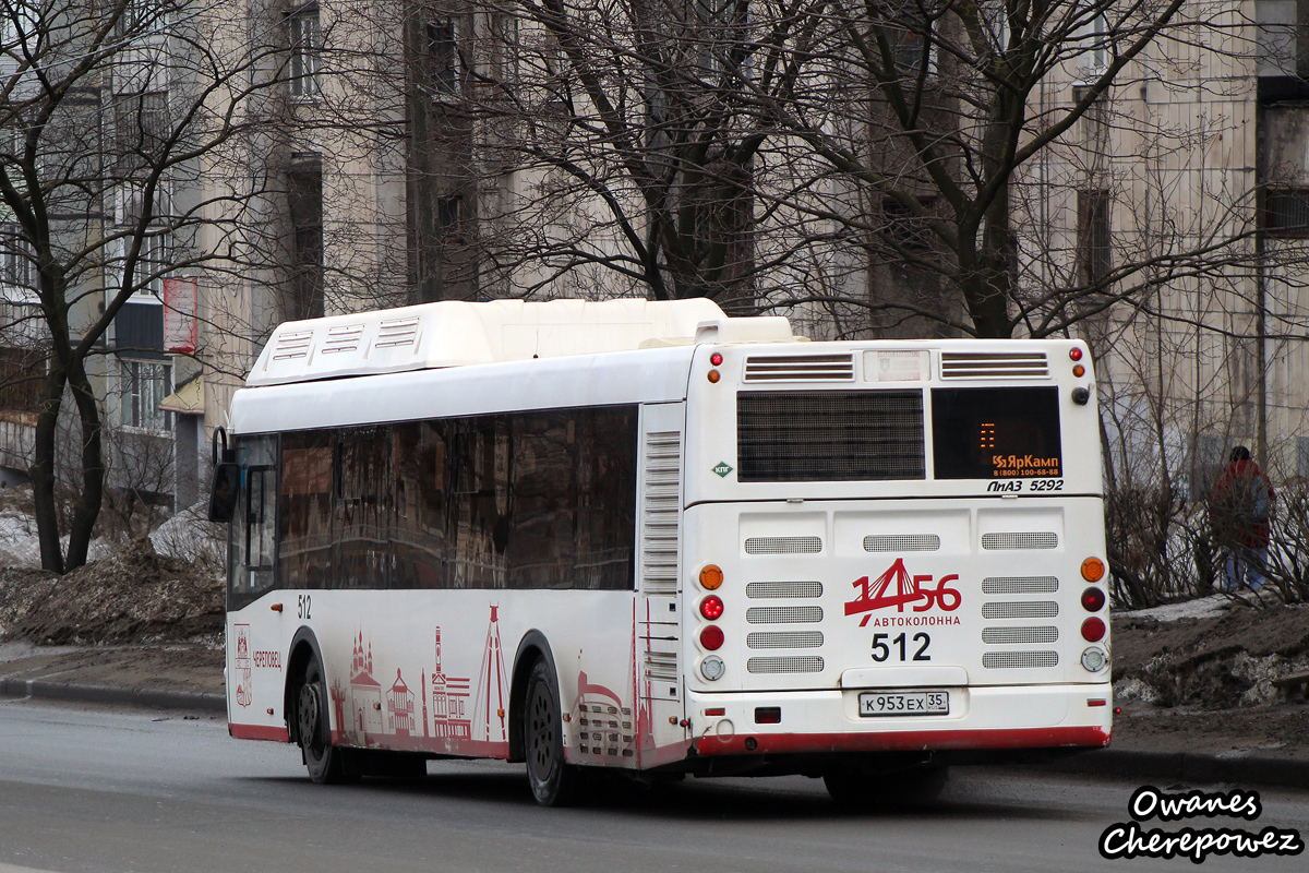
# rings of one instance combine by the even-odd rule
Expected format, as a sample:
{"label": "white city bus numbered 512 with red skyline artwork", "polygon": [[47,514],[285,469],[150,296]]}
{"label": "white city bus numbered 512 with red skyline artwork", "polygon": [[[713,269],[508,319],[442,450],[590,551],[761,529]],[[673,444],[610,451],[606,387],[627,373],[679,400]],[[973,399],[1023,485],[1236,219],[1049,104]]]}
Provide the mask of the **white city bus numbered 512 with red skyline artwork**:
{"label": "white city bus numbered 512 with red skyline artwork", "polygon": [[859,801],[1109,742],[1079,340],[439,302],[281,325],[229,429],[230,732],[315,781],[487,757],[543,804],[586,767]]}

